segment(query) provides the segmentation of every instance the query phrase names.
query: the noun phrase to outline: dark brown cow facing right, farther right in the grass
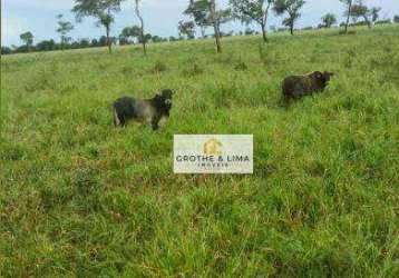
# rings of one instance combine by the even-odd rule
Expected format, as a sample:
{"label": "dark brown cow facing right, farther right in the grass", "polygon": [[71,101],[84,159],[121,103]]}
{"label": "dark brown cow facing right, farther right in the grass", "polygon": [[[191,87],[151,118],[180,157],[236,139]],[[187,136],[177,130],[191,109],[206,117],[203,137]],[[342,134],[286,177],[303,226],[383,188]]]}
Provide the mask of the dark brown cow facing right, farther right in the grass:
{"label": "dark brown cow facing right, farther right in the grass", "polygon": [[323,91],[333,75],[328,71],[314,71],[305,76],[286,77],[282,85],[284,99],[299,99],[313,92]]}

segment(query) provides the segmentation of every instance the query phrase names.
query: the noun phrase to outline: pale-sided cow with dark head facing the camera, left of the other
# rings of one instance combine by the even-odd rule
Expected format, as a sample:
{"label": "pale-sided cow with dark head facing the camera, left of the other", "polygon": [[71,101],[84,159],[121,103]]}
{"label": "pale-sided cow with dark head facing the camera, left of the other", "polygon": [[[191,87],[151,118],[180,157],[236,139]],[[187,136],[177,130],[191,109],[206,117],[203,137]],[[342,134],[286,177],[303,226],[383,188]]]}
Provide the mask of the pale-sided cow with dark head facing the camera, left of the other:
{"label": "pale-sided cow with dark head facing the camera, left of the other", "polygon": [[172,109],[173,91],[165,89],[152,99],[123,97],[114,102],[114,123],[124,127],[134,119],[152,125],[153,130],[167,122]]}

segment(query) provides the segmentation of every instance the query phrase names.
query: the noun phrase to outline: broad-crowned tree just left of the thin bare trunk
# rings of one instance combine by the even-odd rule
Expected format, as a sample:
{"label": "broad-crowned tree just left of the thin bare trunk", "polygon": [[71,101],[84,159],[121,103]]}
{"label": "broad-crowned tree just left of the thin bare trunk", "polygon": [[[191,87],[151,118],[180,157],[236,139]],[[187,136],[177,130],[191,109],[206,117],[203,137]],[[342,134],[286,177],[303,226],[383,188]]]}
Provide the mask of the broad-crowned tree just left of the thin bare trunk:
{"label": "broad-crowned tree just left of the thin bare trunk", "polygon": [[103,26],[106,29],[106,39],[109,53],[111,50],[111,40],[109,38],[110,27],[114,22],[113,12],[120,11],[120,3],[124,0],[75,0],[72,12],[76,13],[78,22],[84,17],[95,17],[98,19],[97,26]]}

